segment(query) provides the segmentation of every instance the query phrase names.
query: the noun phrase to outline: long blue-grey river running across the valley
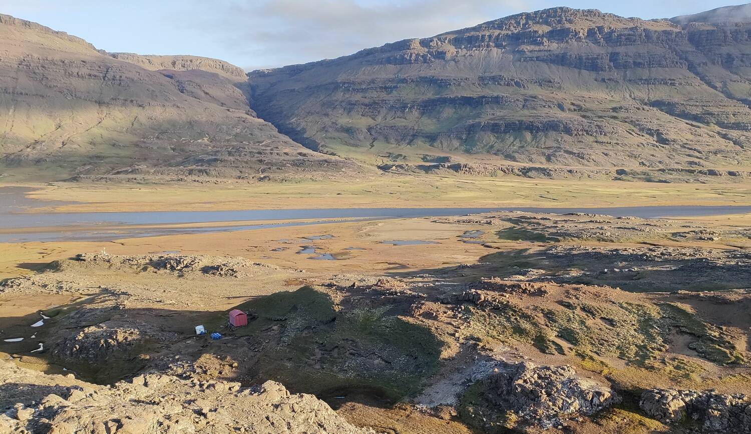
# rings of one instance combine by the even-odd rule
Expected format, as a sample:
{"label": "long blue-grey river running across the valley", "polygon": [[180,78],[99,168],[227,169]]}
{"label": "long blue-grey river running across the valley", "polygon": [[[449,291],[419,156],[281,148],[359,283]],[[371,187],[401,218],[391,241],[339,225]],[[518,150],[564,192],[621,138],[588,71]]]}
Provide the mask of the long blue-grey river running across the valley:
{"label": "long blue-grey river running across the valley", "polygon": [[[584,212],[614,217],[695,217],[751,213],[751,205],[665,205],[615,208],[312,208],[237,211],[35,212],[56,202],[29,199],[24,187],[0,187],[0,243],[25,241],[109,241],[154,235],[224,232],[332,223],[342,219],[381,220],[400,217],[442,217],[489,211],[568,214]],[[58,202],[62,203],[62,202]],[[297,220],[297,221],[295,221]],[[301,221],[313,220],[313,221]],[[264,223],[249,224],[258,221]],[[231,222],[242,222],[232,224]],[[268,223],[281,222],[281,223]],[[204,223],[201,227],[176,225]],[[206,224],[209,223],[209,224]],[[210,223],[217,223],[212,226]],[[221,223],[221,224],[220,224]]]}

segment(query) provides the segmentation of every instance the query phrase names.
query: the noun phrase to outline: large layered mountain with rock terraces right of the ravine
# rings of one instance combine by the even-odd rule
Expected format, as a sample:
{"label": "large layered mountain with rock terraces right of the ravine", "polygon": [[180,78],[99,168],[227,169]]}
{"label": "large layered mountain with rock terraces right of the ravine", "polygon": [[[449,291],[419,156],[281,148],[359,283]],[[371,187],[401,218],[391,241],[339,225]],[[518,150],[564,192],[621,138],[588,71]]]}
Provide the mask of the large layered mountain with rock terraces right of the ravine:
{"label": "large layered mountain with rock terraces right of the ravine", "polygon": [[749,36],[749,23],[554,7],[256,70],[251,106],[308,148],[361,160],[738,175]]}

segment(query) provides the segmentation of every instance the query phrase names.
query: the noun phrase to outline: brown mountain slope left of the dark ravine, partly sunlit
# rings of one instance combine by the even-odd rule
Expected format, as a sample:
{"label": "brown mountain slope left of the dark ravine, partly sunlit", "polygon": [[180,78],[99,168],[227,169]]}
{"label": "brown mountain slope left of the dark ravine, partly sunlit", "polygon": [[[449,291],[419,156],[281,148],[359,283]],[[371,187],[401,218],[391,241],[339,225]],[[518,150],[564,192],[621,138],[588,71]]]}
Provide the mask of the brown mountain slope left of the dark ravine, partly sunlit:
{"label": "brown mountain slope left of the dark ravine, partly sunlit", "polygon": [[[242,176],[351,166],[257,118],[231,65],[110,56],[7,15],[0,39],[0,173]],[[139,66],[149,59],[149,69]],[[153,70],[164,66],[172,69]]]}

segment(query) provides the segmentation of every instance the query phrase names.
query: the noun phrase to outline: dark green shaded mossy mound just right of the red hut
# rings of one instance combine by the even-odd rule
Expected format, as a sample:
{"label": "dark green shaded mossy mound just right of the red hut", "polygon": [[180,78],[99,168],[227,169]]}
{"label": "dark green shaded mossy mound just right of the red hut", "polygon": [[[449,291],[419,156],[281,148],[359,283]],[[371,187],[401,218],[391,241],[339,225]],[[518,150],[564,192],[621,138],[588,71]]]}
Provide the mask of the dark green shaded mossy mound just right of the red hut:
{"label": "dark green shaded mossy mound just right of the red hut", "polygon": [[390,306],[342,310],[324,292],[303,287],[239,308],[258,319],[237,334],[278,340],[261,352],[252,375],[293,391],[394,402],[419,391],[438,367],[441,341],[428,328],[388,314]]}

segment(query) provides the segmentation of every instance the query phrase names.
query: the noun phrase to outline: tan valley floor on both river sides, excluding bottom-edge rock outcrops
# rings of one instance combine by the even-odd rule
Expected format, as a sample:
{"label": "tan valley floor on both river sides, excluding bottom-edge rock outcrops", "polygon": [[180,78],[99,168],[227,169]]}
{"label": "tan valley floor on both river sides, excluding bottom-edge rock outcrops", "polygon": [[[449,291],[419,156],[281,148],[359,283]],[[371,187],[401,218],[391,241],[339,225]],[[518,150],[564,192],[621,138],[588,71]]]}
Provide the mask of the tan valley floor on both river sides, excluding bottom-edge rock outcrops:
{"label": "tan valley floor on both river sides, excluding bottom-edge rock outcrops", "polygon": [[[416,185],[52,184],[31,196],[65,202],[59,211],[751,203],[744,184]],[[68,387],[140,373],[243,388],[273,380],[385,433],[680,432],[695,423],[657,420],[639,407],[643,391],[751,394],[749,252],[749,215],[520,212],[0,244],[0,352],[18,368],[75,373]],[[248,326],[228,327],[233,308],[251,313]],[[198,324],[222,339],[196,337]],[[519,362],[569,365],[619,402],[591,417],[512,415],[493,379]],[[2,406],[52,393],[41,384],[53,380],[29,377],[40,385],[8,395],[13,376],[0,375]]]}

